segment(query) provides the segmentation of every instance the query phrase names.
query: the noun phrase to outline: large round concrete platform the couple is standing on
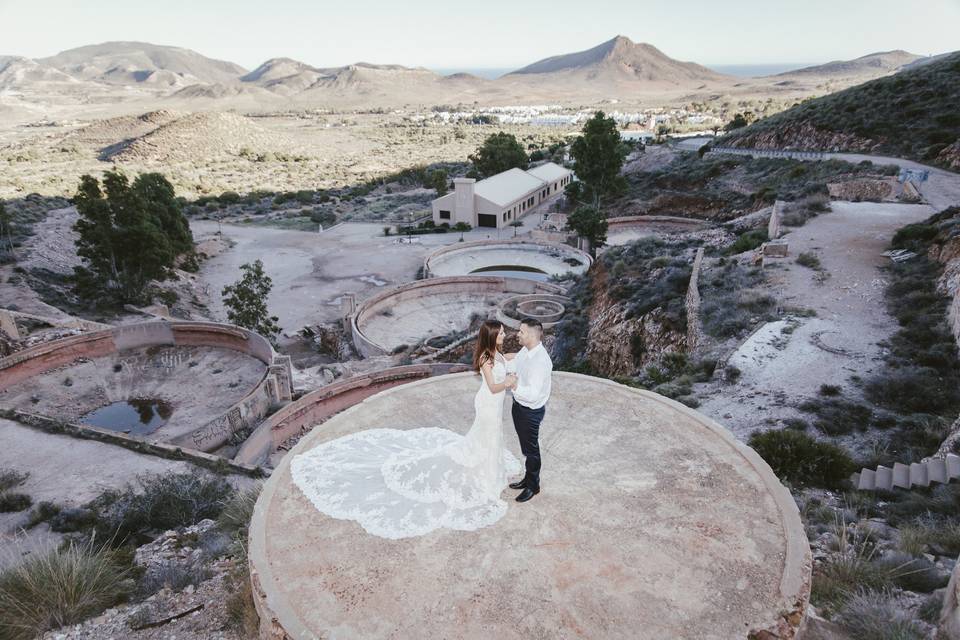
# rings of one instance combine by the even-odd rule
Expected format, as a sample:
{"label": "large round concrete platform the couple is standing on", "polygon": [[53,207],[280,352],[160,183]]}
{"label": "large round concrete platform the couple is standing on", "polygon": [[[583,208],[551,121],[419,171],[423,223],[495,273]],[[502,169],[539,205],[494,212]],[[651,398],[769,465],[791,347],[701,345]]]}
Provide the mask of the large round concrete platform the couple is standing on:
{"label": "large round concrete platform the couple is standing on", "polygon": [[464,432],[478,384],[460,373],[383,391],[284,457],[250,528],[262,637],[800,637],[810,549],[789,492],[725,429],[656,394],[554,373],[543,490],[478,531],[377,538],[292,483],[293,456],[349,433]]}

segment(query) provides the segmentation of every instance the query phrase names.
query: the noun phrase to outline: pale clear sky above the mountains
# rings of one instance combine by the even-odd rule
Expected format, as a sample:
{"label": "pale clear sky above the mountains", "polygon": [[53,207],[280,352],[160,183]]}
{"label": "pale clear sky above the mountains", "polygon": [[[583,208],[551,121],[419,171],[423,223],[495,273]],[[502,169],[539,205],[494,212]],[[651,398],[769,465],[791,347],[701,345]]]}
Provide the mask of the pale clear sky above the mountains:
{"label": "pale clear sky above the mountains", "polygon": [[248,69],[516,68],[624,35],[707,65],[814,64],[960,49],[958,25],[960,0],[0,0],[0,55],[138,40]]}

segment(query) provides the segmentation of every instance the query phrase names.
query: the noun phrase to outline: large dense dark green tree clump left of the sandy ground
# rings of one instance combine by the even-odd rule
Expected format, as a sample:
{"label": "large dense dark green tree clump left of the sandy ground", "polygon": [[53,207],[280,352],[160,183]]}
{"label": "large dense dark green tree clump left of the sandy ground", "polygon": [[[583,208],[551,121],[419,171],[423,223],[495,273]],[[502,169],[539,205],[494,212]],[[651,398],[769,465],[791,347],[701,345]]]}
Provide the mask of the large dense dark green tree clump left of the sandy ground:
{"label": "large dense dark green tree clump left of the sandy ground", "polygon": [[80,218],[74,268],[77,295],[88,302],[144,303],[147,284],[170,277],[177,256],[193,251],[187,219],[173,186],[158,173],[130,184],[119,171],[107,171],[103,185],[84,175],[74,197]]}

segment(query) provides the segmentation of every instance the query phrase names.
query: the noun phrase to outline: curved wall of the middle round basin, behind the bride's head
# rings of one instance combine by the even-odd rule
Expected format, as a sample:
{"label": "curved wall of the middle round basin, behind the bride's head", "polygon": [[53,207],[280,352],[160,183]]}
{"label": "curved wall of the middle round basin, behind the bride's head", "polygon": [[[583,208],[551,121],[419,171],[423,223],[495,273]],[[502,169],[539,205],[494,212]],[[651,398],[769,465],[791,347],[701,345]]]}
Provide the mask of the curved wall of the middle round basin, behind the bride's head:
{"label": "curved wall of the middle round basin, behind the bride's head", "polygon": [[350,319],[350,333],[354,347],[362,357],[381,356],[388,353],[387,349],[364,335],[363,323],[371,316],[400,302],[444,293],[473,293],[480,296],[504,293],[562,295],[564,292],[563,287],[547,282],[500,276],[451,276],[417,280],[388,289],[362,302]]}

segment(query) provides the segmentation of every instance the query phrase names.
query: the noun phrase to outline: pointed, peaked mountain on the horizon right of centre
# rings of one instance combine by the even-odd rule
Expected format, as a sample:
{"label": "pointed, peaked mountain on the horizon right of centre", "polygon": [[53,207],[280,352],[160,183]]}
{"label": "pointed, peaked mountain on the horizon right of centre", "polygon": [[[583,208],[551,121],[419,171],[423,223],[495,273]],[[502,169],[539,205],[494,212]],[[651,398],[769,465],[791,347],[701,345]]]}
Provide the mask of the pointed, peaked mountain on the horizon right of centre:
{"label": "pointed, peaked mountain on the horizon right of centre", "polygon": [[625,36],[617,36],[586,51],[534,62],[507,74],[502,80],[534,78],[546,81],[580,79],[593,83],[636,82],[641,87],[697,86],[733,80],[699,64],[674,60],[651,44],[635,43]]}

